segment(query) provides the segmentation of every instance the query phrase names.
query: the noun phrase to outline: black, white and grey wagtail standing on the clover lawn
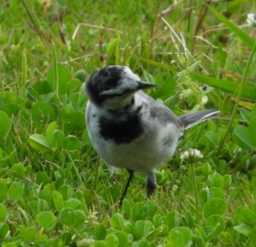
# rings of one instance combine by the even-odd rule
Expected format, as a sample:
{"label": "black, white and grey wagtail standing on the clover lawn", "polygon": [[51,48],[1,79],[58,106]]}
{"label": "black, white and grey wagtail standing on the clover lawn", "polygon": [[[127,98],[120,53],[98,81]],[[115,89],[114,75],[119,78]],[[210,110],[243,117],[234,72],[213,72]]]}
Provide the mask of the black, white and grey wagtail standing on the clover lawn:
{"label": "black, white and grey wagtail standing on the clover lawn", "polygon": [[120,205],[136,171],[148,175],[147,197],[151,197],[157,186],[156,168],[173,156],[184,130],[219,114],[210,109],[178,117],[140,91],[154,87],[142,82],[127,66],[106,66],[86,83],[91,143],[105,164],[129,171]]}

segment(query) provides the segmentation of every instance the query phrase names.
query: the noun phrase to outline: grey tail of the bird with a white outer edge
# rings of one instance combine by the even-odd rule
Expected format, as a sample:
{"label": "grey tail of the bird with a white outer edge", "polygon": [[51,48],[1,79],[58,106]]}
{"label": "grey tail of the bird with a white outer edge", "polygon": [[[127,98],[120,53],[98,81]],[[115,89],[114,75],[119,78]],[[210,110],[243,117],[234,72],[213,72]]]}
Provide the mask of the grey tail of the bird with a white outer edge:
{"label": "grey tail of the bird with a white outer edge", "polygon": [[181,115],[179,117],[181,123],[185,129],[189,129],[192,126],[197,125],[203,121],[206,121],[208,118],[219,115],[219,110],[209,109],[209,110],[200,110],[196,113],[189,113],[186,115]]}

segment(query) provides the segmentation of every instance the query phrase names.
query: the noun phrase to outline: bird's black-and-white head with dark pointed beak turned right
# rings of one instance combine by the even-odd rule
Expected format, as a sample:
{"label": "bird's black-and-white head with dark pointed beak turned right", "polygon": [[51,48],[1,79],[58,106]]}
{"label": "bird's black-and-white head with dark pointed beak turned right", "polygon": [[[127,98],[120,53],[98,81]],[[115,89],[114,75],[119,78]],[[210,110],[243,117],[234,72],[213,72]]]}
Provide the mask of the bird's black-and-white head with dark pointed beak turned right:
{"label": "bird's black-and-white head with dark pointed beak turned right", "polygon": [[154,87],[140,81],[127,66],[106,66],[91,75],[86,83],[90,101],[106,110],[122,109],[132,102],[136,91]]}

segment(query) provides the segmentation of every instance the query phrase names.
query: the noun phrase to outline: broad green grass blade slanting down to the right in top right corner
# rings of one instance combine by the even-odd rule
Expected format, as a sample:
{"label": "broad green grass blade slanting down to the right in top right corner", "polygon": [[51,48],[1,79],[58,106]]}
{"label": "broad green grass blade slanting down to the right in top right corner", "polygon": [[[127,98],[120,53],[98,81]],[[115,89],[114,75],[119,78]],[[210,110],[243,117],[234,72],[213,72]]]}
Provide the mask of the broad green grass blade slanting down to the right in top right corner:
{"label": "broad green grass blade slanting down to the right in top right corner", "polygon": [[222,23],[225,23],[227,28],[229,28],[230,31],[233,31],[233,33],[236,34],[236,36],[239,37],[246,45],[253,48],[253,46],[255,45],[255,40],[252,39],[252,37],[250,37],[248,34],[246,34],[244,31],[238,28],[238,26],[231,23],[230,20],[225,18],[225,16],[222,15],[221,13],[217,12],[217,10],[215,10],[213,7],[208,5],[208,9],[210,9],[211,12],[213,12],[214,15],[216,15],[217,18],[219,18],[219,20],[222,21]]}

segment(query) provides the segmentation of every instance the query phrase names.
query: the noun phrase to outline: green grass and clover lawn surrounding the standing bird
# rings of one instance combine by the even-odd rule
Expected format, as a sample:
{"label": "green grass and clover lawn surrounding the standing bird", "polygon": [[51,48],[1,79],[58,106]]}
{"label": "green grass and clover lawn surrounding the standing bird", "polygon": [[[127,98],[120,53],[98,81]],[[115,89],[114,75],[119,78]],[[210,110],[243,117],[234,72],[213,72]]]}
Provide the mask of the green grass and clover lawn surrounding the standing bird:
{"label": "green grass and clover lawn surrounding the standing bird", "polygon": [[[4,1],[0,9],[1,246],[255,246],[255,29],[251,1]],[[86,131],[86,78],[129,65],[187,131],[146,199],[111,175]],[[197,148],[199,160],[180,153]]]}

